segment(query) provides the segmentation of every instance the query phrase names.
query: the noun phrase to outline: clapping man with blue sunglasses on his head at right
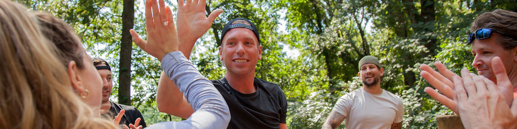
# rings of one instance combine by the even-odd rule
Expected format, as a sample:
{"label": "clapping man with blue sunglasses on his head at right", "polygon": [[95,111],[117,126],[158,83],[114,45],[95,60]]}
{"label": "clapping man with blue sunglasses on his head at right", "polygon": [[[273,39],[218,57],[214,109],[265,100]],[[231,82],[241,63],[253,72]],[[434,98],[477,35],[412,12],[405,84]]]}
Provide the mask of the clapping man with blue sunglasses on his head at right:
{"label": "clapping man with blue sunglasses on his head at right", "polygon": [[[501,58],[513,87],[497,88],[510,105],[517,96],[517,12],[503,9],[485,12],[472,23],[470,31],[466,43],[472,44],[472,66],[476,68],[478,75],[499,85],[492,67],[492,58]],[[440,62],[435,62],[434,65],[439,72],[424,64],[420,66],[420,75],[442,94],[430,87],[426,87],[424,91],[459,115],[458,102],[453,100],[456,94],[452,83],[457,75]]]}

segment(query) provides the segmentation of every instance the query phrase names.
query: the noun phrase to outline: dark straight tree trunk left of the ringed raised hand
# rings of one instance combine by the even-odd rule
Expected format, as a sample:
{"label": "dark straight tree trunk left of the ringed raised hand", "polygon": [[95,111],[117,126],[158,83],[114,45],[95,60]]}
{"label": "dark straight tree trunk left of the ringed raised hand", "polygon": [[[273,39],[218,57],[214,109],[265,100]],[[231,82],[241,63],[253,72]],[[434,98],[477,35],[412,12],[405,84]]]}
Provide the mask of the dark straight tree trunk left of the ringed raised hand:
{"label": "dark straight tree trunk left of the ringed raised hand", "polygon": [[118,79],[118,103],[131,105],[131,50],[129,29],[134,25],[134,0],[124,0],[122,11],[122,38],[120,39],[120,64]]}

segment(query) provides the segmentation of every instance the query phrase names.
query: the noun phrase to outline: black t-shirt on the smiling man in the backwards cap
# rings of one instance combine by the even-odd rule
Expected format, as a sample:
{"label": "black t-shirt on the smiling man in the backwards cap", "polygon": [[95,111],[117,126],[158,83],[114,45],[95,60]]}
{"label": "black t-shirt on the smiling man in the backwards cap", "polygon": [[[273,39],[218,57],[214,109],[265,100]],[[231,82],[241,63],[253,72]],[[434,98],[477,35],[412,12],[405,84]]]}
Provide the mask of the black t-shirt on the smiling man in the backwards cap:
{"label": "black t-shirt on the smiling man in the backwards cap", "polygon": [[285,123],[287,99],[278,84],[255,77],[254,93],[233,89],[226,78],[211,80],[230,108],[228,128],[280,128]]}

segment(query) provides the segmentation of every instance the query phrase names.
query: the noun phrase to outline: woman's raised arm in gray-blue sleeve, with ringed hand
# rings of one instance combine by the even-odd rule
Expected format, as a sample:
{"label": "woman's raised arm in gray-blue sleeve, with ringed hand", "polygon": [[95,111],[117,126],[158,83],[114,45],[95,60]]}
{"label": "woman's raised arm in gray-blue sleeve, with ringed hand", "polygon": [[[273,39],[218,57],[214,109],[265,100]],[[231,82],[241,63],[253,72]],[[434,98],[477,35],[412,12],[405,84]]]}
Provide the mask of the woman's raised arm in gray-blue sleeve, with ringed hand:
{"label": "woman's raised arm in gray-blue sleeve, with ringed hand", "polygon": [[[131,30],[133,41],[149,55],[161,61],[166,76],[173,80],[195,112],[187,120],[162,122],[148,128],[226,128],[230,110],[221,94],[197,71],[192,63],[178,51],[178,38],[172,12],[160,0],[147,0],[145,23],[148,41],[140,39]],[[151,13],[152,12],[152,13]],[[166,12],[166,13],[165,13]]]}

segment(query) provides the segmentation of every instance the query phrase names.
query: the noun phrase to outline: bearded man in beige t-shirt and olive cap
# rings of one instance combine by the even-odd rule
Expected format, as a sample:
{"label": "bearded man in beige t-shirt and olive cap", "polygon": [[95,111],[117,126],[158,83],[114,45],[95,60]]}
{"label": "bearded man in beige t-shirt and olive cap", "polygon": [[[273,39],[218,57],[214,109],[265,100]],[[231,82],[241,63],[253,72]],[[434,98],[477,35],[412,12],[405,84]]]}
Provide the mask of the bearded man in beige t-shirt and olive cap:
{"label": "bearded man in beige t-shirt and olive cap", "polygon": [[362,88],[339,98],[322,128],[337,128],[346,118],[346,128],[401,128],[404,105],[399,96],[381,89],[381,68],[377,57],[359,61]]}

